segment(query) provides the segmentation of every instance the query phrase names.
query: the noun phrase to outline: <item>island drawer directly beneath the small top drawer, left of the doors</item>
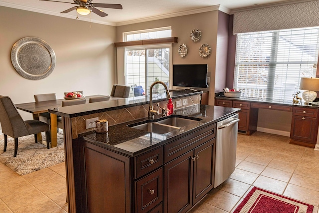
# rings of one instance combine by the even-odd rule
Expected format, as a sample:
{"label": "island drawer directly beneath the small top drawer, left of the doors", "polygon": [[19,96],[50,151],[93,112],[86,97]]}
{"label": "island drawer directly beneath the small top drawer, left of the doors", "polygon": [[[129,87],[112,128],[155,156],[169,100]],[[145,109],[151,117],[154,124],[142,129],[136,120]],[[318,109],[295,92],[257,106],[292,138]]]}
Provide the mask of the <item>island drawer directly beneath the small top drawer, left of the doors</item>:
{"label": "island drawer directly beneath the small top drawer, left of the doors", "polygon": [[163,201],[163,168],[135,182],[136,213],[147,213]]}

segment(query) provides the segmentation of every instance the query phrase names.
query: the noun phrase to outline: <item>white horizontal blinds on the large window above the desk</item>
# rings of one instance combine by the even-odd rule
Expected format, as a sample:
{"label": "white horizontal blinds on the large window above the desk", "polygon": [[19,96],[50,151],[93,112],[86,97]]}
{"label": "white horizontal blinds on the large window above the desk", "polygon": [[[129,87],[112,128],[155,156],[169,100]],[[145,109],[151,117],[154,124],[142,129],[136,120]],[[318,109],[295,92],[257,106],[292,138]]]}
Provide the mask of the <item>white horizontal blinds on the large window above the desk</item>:
{"label": "white horizontal blinds on the large window above the desk", "polygon": [[234,87],[258,100],[289,100],[316,77],[319,27],[237,34]]}

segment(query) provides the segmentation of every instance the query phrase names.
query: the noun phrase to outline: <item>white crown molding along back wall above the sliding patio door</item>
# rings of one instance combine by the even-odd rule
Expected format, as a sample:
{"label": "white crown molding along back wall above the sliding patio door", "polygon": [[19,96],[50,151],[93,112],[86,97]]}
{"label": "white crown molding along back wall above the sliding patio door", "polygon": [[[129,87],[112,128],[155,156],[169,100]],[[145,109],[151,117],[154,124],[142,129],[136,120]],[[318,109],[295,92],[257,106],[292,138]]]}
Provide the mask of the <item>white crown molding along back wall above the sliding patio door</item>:
{"label": "white crown molding along back wall above the sliding patio door", "polygon": [[[202,13],[202,12],[211,12],[211,11],[219,10],[219,8],[220,8],[219,5],[207,6],[207,7],[203,7],[203,8],[199,8],[199,9],[192,9],[192,10],[187,10],[187,11],[182,11],[182,12],[175,12],[175,13],[158,15],[158,16],[153,16],[153,17],[140,18],[140,19],[136,19],[136,20],[118,22],[118,23],[116,23],[116,26],[142,23],[142,22],[160,20],[160,19],[165,19],[165,18],[173,18],[173,17],[178,17],[178,16],[184,16],[184,15],[192,15],[192,14],[197,14],[197,13]],[[225,7],[223,7],[223,8],[225,8]]]}

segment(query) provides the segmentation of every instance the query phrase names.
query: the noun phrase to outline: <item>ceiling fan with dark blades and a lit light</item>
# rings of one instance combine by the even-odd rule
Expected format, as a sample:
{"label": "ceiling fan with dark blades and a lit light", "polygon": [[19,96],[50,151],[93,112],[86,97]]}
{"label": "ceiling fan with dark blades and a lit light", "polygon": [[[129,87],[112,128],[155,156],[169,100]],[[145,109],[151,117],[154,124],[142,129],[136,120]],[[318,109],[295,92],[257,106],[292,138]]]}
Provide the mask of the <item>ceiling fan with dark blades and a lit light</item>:
{"label": "ceiling fan with dark blades and a lit light", "polygon": [[[63,1],[53,1],[53,0],[41,0],[41,1],[51,1],[51,2],[59,2],[59,3],[69,3],[69,2],[63,2]],[[68,13],[72,10],[76,10],[80,15],[87,15],[90,12],[94,12],[95,14],[105,17],[108,14],[104,13],[102,10],[99,10],[95,7],[102,7],[102,8],[111,8],[111,9],[122,9],[121,4],[109,4],[109,3],[93,3],[92,0],[73,0],[73,3],[70,4],[77,4],[77,6],[74,6],[70,9],[67,9],[60,13]]]}

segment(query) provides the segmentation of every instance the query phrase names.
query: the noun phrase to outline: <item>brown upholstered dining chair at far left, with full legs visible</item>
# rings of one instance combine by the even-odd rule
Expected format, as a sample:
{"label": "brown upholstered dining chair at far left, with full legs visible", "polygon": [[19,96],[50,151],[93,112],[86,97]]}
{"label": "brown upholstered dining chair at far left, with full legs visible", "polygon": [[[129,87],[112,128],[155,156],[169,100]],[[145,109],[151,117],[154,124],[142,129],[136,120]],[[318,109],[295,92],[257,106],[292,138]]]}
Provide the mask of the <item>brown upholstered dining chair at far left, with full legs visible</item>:
{"label": "brown upholstered dining chair at far left, with full legs visible", "polygon": [[18,138],[22,136],[34,134],[35,143],[37,143],[37,133],[46,132],[47,148],[50,148],[50,132],[49,125],[38,120],[24,121],[13,104],[11,98],[0,95],[0,122],[2,133],[4,134],[4,148],[6,151],[8,136],[14,138],[14,155],[16,157],[18,151]]}

